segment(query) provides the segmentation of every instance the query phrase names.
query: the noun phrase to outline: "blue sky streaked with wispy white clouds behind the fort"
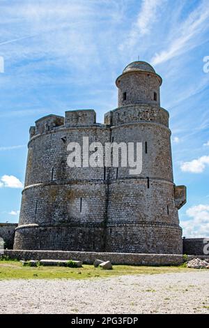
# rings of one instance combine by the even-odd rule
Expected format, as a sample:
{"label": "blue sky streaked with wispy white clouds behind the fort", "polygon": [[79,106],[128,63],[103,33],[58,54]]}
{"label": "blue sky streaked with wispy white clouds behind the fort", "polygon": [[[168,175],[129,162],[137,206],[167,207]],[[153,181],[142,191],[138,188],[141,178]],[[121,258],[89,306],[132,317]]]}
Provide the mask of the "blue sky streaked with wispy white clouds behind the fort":
{"label": "blue sky streaked with wispy white clouds behind the fort", "polygon": [[1,0],[0,26],[0,222],[18,220],[29,126],[84,108],[102,122],[139,56],[163,79],[183,234],[209,237],[208,0]]}

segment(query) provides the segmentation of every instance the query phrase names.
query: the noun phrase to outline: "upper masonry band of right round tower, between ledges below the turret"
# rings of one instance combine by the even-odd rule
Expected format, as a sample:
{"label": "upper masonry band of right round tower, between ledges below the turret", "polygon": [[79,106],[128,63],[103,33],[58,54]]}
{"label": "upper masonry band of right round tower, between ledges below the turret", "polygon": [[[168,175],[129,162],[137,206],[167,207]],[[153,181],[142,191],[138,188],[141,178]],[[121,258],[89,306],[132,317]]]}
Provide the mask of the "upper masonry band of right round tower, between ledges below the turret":
{"label": "upper masonry band of right round tower, between ledges below the turret", "polygon": [[[111,127],[114,142],[142,142],[142,172],[134,177],[155,177],[173,181],[171,160],[171,132],[162,125],[149,122],[123,124]],[[114,138],[114,139],[113,139]],[[113,174],[115,168],[111,168]],[[130,177],[130,166],[121,167],[118,177]]]}

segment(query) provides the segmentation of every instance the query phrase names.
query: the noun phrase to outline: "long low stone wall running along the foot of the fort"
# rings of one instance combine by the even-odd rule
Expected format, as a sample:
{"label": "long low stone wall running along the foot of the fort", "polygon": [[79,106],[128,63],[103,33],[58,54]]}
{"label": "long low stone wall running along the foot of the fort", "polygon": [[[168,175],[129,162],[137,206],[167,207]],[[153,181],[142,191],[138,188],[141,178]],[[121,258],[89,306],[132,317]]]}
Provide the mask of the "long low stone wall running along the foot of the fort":
{"label": "long low stone wall running along the foot of the fort", "polygon": [[[93,264],[95,259],[110,260],[112,264],[130,265],[179,265],[185,261],[183,255],[139,254],[139,253],[96,253],[74,251],[13,251],[6,250],[4,255],[17,260],[79,260],[84,264]],[[194,258],[193,255],[187,257]],[[209,258],[203,256],[200,258]]]}

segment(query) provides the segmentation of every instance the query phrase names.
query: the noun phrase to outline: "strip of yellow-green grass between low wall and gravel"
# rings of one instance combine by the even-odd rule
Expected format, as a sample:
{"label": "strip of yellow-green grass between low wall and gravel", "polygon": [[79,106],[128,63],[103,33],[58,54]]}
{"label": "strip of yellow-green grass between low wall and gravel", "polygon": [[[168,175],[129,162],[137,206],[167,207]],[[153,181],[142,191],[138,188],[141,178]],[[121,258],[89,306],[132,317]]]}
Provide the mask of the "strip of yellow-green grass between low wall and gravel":
{"label": "strip of yellow-green grass between low wall and gravel", "polygon": [[[19,261],[0,260],[0,280],[3,279],[57,279],[57,278],[103,278],[125,274],[164,274],[188,271],[184,267],[137,267],[132,265],[114,265],[113,270],[83,265],[82,268],[69,267],[23,267]],[[190,269],[192,270],[192,269]]]}

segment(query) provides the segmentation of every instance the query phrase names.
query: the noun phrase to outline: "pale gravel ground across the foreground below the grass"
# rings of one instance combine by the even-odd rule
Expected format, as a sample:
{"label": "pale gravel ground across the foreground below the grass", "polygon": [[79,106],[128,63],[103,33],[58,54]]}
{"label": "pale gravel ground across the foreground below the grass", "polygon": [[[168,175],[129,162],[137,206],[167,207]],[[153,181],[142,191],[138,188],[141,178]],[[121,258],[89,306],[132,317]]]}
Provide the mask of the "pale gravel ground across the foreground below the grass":
{"label": "pale gravel ground across the foreground below the grass", "polygon": [[0,313],[209,313],[209,270],[0,281]]}

